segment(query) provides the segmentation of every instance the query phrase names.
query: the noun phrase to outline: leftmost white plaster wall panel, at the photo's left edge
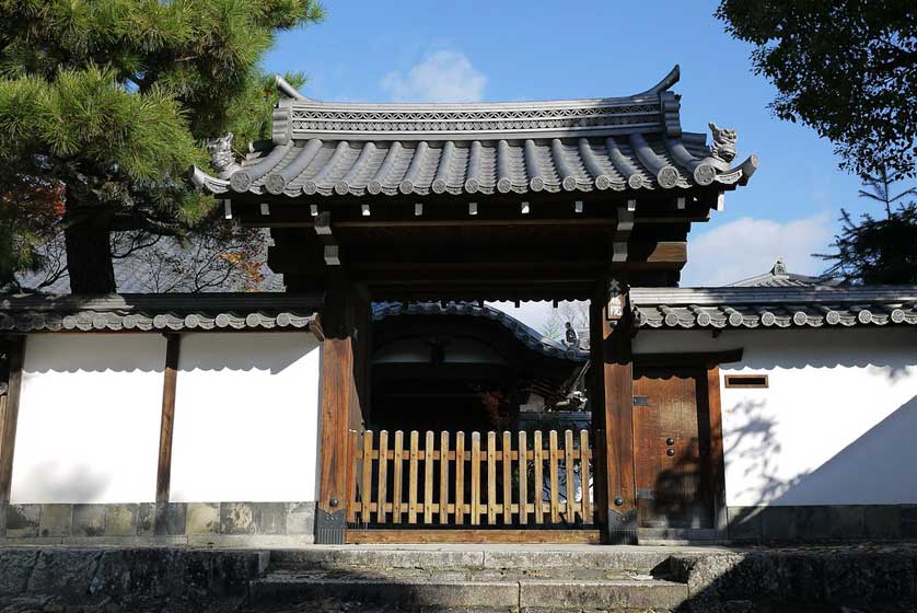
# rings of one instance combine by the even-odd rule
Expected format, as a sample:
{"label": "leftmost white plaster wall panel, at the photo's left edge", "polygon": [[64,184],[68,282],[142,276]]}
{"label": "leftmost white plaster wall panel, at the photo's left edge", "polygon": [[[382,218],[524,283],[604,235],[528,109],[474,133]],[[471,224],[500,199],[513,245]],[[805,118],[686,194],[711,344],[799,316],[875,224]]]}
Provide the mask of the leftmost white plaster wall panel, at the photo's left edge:
{"label": "leftmost white plaster wall panel, at the photo's left edge", "polygon": [[28,336],[12,501],[152,501],[164,361],[158,334]]}

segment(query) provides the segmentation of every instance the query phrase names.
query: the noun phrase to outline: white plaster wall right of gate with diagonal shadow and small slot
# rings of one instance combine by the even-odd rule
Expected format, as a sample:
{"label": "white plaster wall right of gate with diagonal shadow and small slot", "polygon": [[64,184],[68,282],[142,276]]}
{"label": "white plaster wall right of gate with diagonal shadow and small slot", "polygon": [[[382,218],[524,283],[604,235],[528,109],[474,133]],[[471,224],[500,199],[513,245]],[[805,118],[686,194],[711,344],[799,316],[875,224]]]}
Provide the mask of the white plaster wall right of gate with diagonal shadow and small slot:
{"label": "white plaster wall right of gate with diagonal shadow and small slot", "polygon": [[[636,352],[744,347],[722,365],[728,505],[917,504],[917,329],[641,331]],[[727,374],[768,389],[726,389]]]}

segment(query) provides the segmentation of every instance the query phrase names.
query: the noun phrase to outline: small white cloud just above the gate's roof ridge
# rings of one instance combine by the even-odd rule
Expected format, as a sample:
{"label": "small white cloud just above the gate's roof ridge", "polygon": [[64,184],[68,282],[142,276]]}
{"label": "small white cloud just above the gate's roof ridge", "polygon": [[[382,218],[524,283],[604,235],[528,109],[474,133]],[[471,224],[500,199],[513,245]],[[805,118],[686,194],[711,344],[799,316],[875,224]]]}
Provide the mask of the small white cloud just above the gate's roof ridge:
{"label": "small white cloud just above the gate's roof ridge", "polygon": [[390,72],[382,89],[397,102],[479,102],[487,77],[476,70],[465,54],[438,50],[428,54],[407,73]]}

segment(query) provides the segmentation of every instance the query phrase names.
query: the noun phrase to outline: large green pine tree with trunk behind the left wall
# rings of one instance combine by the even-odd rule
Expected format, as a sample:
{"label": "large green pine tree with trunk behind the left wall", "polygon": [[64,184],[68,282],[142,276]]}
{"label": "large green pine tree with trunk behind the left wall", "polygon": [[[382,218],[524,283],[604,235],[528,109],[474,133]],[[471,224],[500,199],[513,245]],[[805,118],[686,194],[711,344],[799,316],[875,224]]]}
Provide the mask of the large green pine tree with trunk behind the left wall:
{"label": "large green pine tree with trunk behind the left wall", "polygon": [[113,232],[211,221],[185,172],[208,164],[210,138],[268,135],[276,91],[258,61],[278,32],[321,19],[314,0],[0,0],[0,195],[13,201],[0,222],[21,221],[0,233],[0,284],[40,265],[47,219],[16,198],[35,181],[62,190],[74,292],[116,290]]}

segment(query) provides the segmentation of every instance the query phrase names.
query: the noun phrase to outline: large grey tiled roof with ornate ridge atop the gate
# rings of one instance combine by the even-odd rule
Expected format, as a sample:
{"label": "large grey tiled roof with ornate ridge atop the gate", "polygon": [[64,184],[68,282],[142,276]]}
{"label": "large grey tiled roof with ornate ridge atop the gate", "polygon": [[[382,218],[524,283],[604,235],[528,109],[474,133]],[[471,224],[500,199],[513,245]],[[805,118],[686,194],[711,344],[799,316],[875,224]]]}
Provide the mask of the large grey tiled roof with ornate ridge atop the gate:
{"label": "large grey tiled roof with ornate ridge atop the gate", "polygon": [[287,85],[274,138],[219,177],[213,194],[363,196],[674,189],[744,183],[703,134],[683,132],[678,69],[624,97],[480,104],[355,104]]}

